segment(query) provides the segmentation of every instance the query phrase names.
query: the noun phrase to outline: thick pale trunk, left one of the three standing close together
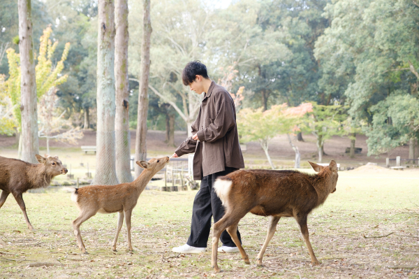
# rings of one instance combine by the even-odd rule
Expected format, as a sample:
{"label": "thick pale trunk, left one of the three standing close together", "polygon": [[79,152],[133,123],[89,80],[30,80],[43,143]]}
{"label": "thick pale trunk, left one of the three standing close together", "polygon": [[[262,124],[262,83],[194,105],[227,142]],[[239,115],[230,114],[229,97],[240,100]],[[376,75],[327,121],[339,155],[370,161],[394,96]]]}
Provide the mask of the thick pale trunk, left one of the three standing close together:
{"label": "thick pale trunk, left one of the three standing close together", "polygon": [[115,171],[115,25],[112,0],[98,1],[96,176],[92,185],[118,184]]}

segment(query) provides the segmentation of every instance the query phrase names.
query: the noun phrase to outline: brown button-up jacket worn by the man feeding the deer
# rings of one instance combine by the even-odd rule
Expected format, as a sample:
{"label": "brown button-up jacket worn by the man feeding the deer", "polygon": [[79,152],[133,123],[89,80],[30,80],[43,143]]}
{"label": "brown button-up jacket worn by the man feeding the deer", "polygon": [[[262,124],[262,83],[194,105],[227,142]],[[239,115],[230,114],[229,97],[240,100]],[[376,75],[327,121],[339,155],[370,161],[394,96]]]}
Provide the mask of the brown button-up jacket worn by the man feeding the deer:
{"label": "brown button-up jacket worn by the man feeding the deer", "polygon": [[199,141],[186,138],[177,150],[177,156],[195,152],[193,179],[225,171],[226,166],[244,168],[237,132],[234,101],[227,90],[214,81],[201,103],[198,117],[192,124],[192,134]]}

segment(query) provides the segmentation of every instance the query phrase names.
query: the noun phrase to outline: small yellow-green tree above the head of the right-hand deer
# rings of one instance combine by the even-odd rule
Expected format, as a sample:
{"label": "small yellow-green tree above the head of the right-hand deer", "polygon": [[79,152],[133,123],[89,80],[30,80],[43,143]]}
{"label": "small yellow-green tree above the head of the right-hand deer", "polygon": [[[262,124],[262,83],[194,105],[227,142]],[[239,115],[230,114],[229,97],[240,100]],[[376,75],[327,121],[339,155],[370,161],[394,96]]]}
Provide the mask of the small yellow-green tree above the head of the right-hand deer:
{"label": "small yellow-green tree above the head of the right-hand deer", "polygon": [[323,106],[316,103],[313,103],[313,111],[305,115],[302,130],[316,136],[319,163],[322,162],[325,141],[332,136],[345,134],[342,122],[346,117],[342,106]]}

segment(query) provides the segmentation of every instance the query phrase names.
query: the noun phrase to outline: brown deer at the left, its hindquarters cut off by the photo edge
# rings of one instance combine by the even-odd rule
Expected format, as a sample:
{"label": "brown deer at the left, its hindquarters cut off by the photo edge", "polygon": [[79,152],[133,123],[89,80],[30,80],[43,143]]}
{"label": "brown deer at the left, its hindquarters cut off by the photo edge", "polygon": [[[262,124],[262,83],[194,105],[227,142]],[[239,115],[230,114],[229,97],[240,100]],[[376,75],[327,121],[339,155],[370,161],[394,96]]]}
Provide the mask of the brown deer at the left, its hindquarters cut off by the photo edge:
{"label": "brown deer at the left, its hindquarters cut off by the photo edge", "polygon": [[58,156],[45,154],[45,157],[41,155],[35,155],[35,157],[39,164],[0,156],[0,208],[6,202],[8,195],[12,193],[31,231],[34,231],[34,227],[29,222],[22,194],[29,189],[47,187],[52,178],[67,173],[67,169],[64,168]]}

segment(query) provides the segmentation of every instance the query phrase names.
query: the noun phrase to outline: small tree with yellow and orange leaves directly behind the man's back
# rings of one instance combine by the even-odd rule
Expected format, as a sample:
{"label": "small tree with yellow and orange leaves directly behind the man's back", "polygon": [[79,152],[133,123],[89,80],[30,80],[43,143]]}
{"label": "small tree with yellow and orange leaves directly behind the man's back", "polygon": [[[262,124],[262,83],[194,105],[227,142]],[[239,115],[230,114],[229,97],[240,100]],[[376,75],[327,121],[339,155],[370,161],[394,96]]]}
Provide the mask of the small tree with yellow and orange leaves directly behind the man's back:
{"label": "small tree with yellow and orange leaves directly behind the man's back", "polygon": [[277,134],[288,134],[293,126],[293,118],[284,115],[286,104],[272,106],[270,110],[243,108],[237,117],[237,128],[241,142],[258,141],[265,151],[267,161],[275,169],[269,155],[269,141]]}

